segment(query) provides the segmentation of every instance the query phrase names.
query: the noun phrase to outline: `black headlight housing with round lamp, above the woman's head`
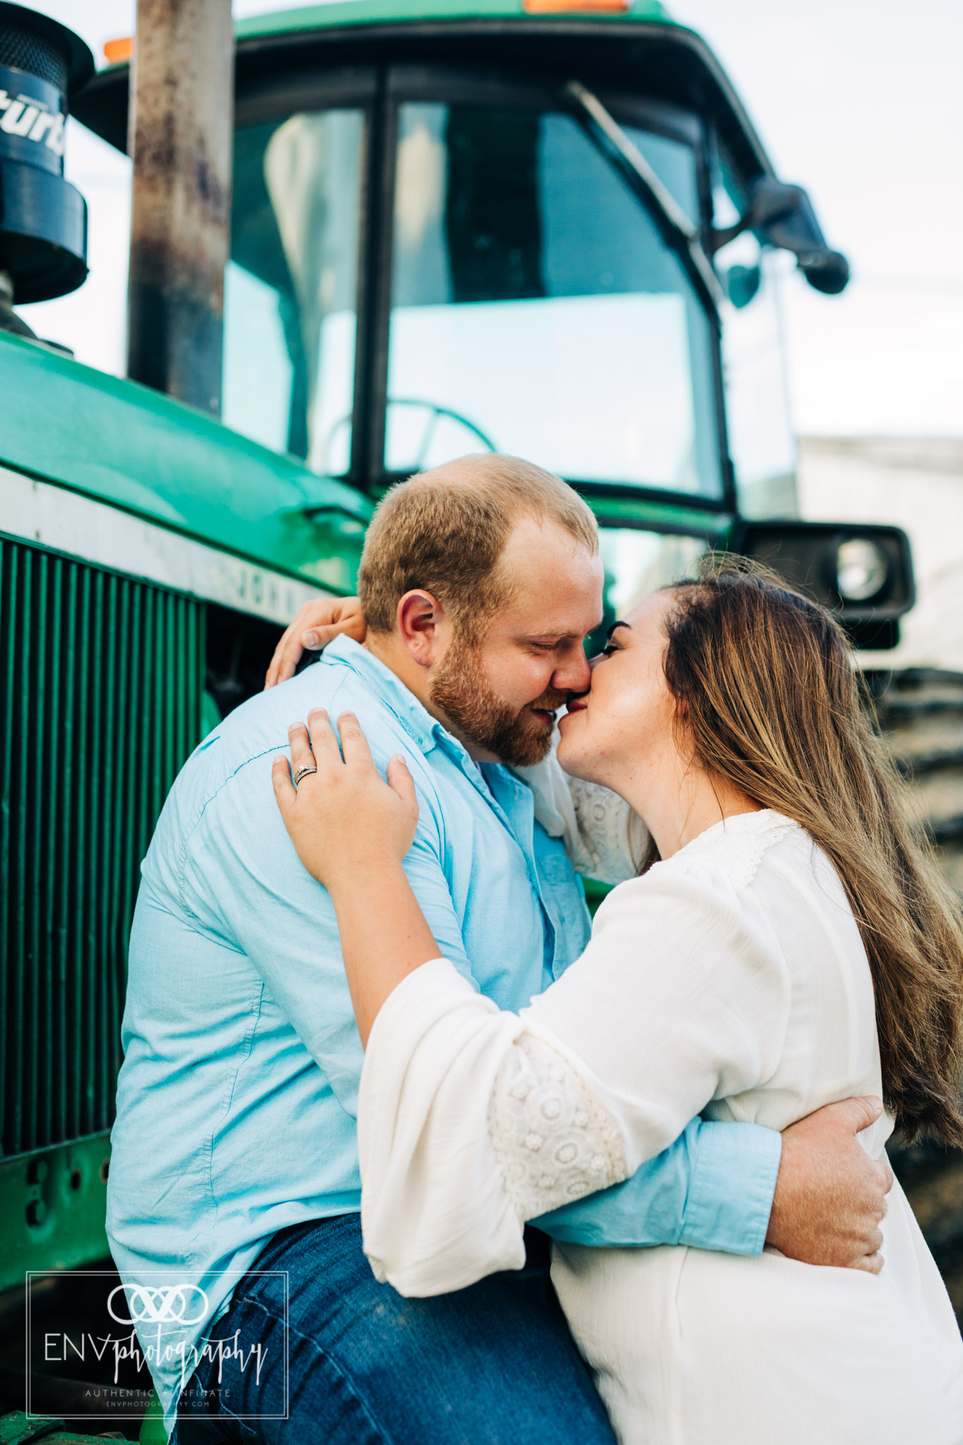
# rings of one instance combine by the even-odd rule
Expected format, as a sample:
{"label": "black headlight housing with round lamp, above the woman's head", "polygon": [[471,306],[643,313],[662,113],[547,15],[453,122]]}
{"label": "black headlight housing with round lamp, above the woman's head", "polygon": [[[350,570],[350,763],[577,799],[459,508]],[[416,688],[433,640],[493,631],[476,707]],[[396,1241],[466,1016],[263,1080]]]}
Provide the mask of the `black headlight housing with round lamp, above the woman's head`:
{"label": "black headlight housing with round lamp, above the woman's head", "polygon": [[899,642],[899,618],[915,603],[912,552],[902,527],[742,522],[731,546],[836,613],[856,647]]}

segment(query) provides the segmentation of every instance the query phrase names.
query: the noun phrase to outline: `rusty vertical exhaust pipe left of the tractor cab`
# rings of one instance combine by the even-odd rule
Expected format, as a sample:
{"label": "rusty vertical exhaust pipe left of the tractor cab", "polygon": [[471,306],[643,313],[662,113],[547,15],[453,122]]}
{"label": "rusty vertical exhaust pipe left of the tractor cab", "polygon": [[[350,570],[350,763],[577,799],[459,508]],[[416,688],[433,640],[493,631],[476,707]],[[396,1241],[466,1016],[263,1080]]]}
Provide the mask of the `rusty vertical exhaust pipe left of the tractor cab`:
{"label": "rusty vertical exhaust pipe left of the tractor cab", "polygon": [[137,0],[127,374],[221,413],[234,140],[231,0]]}

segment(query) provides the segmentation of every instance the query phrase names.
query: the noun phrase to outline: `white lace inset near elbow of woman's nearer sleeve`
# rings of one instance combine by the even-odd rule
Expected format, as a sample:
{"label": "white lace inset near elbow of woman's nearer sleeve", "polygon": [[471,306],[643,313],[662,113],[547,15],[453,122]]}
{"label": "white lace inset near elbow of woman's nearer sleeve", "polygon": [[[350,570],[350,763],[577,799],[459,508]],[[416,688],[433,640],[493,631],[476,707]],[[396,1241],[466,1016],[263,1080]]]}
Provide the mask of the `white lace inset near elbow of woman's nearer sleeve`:
{"label": "white lace inset near elbow of woman's nearer sleeve", "polygon": [[614,1118],[537,1035],[520,1035],[498,1071],[488,1127],[520,1220],[628,1178]]}

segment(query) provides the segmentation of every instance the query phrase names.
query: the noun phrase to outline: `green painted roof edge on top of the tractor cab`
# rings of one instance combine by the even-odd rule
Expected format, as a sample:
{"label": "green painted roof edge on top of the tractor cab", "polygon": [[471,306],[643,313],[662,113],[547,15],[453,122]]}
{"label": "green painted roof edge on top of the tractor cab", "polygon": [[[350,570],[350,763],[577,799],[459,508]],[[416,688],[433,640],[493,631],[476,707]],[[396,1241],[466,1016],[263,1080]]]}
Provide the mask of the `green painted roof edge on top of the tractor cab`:
{"label": "green painted roof edge on top of the tractor cab", "polygon": [[[658,0],[635,0],[631,10],[605,13],[599,10],[559,10],[546,19],[559,16],[570,20],[642,20],[674,25],[666,7]],[[500,20],[523,17],[531,20],[523,0],[341,0],[336,4],[305,6],[299,10],[279,10],[274,14],[250,16],[235,20],[234,33],[238,40],[267,35],[299,35],[305,30],[331,30],[345,25],[378,25],[385,22],[413,25],[429,20]]]}

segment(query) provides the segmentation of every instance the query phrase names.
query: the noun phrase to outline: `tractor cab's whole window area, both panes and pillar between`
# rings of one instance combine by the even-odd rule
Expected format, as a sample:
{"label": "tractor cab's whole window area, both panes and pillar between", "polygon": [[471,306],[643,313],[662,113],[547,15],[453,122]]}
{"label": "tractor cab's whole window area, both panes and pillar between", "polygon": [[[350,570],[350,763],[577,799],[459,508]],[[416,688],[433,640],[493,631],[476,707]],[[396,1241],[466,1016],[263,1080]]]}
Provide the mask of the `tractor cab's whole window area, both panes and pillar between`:
{"label": "tractor cab's whole window area, both panes and pillar between", "polygon": [[[622,124],[697,223],[694,146]],[[713,319],[579,120],[400,98],[374,126],[238,129],[228,425],[362,486],[495,449],[722,499]]]}

